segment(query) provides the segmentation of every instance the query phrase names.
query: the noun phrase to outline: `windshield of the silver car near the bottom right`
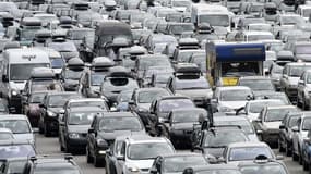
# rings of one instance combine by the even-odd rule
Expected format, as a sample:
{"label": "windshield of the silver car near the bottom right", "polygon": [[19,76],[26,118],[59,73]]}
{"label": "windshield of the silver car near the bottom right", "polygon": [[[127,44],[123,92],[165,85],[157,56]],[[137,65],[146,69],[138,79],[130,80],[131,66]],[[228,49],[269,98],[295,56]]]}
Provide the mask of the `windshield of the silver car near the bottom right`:
{"label": "windshield of the silver car near the bottom right", "polygon": [[260,154],[273,159],[271,150],[266,147],[243,147],[230,149],[229,161],[254,160]]}

